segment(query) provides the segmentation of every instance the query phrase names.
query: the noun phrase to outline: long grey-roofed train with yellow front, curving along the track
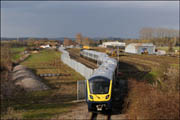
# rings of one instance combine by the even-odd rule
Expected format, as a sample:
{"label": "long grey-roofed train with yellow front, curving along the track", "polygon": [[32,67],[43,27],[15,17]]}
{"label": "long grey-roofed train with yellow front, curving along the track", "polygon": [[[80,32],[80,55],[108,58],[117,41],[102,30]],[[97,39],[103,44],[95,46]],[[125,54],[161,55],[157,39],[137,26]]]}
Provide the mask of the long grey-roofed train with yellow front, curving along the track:
{"label": "long grey-roofed train with yellow front, curving along the track", "polygon": [[82,50],[80,54],[100,63],[93,75],[86,80],[88,110],[92,112],[111,110],[117,60],[110,58],[105,53],[93,50]]}

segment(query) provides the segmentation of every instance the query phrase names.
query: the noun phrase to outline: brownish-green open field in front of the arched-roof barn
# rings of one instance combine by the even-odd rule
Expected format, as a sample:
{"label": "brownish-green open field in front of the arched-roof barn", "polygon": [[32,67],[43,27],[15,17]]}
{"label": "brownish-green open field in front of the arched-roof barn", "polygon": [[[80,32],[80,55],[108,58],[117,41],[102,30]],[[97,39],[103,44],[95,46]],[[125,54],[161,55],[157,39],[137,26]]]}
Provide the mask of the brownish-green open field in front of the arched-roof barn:
{"label": "brownish-green open field in front of the arched-roof barn", "polygon": [[140,71],[151,71],[143,78],[152,81],[152,78],[157,79],[169,67],[179,69],[179,58],[169,56],[155,56],[155,55],[124,55],[119,57],[120,61],[132,64]]}

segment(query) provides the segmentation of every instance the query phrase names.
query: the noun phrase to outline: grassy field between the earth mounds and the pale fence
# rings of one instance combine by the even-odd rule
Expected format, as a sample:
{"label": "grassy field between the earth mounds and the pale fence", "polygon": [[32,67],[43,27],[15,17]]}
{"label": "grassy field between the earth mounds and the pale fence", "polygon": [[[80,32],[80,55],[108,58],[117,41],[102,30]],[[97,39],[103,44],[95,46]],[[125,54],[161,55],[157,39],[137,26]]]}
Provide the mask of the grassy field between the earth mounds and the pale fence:
{"label": "grassy field between the earth mounds and the pale fence", "polygon": [[77,94],[76,81],[84,78],[60,61],[60,52],[43,50],[32,54],[21,64],[36,74],[61,73],[62,76],[42,78],[50,90],[29,92],[16,101],[11,101],[11,107],[15,111],[9,113],[9,116],[44,119],[71,110],[74,104],[70,101],[75,100]]}

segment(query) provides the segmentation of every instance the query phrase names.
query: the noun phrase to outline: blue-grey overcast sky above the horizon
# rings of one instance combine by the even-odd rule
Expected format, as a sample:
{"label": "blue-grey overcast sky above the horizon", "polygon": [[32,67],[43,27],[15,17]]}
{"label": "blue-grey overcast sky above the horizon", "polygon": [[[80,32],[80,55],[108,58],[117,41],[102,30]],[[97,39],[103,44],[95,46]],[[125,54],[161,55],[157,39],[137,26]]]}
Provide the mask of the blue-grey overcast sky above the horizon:
{"label": "blue-grey overcast sky above the horizon", "polygon": [[137,38],[142,27],[179,29],[179,2],[1,2],[2,37]]}

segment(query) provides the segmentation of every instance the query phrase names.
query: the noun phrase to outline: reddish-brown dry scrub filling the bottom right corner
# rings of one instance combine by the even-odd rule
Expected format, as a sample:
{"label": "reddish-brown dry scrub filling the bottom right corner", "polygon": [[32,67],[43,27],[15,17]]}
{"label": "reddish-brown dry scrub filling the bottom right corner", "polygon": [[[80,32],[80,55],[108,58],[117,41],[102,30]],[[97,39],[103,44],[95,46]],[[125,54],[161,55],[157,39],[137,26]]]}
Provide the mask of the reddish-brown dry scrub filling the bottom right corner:
{"label": "reddish-brown dry scrub filling the bottom right corner", "polygon": [[179,92],[162,92],[133,79],[129,80],[129,89],[129,119],[180,119]]}

